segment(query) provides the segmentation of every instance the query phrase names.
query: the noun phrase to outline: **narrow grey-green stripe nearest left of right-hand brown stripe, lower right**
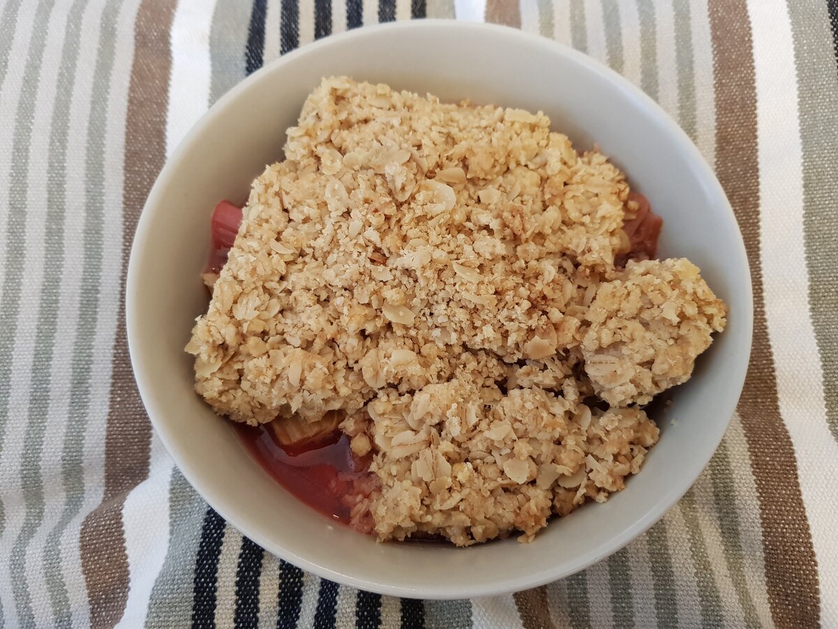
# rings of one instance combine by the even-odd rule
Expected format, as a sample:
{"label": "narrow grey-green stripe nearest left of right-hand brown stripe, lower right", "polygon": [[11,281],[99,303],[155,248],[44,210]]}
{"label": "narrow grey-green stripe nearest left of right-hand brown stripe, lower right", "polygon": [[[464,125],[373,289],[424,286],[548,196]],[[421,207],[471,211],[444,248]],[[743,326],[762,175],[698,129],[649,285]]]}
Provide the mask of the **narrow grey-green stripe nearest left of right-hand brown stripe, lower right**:
{"label": "narrow grey-green stripe nearest left of right-hand brown stripe, lower right", "polygon": [[725,552],[725,563],[727,572],[731,575],[733,586],[736,588],[739,605],[745,615],[745,622],[748,629],[756,629],[759,626],[757,608],[753,604],[750,590],[747,589],[745,578],[745,567],[742,563],[744,551],[742,549],[742,528],[739,524],[739,514],[734,502],[736,486],[733,482],[733,470],[730,455],[727,452],[727,441],[722,440],[719,444],[716,455],[710,460],[708,466],[710,481],[713,489],[713,502],[716,506],[716,513],[719,527],[719,534],[722,537],[722,546]]}

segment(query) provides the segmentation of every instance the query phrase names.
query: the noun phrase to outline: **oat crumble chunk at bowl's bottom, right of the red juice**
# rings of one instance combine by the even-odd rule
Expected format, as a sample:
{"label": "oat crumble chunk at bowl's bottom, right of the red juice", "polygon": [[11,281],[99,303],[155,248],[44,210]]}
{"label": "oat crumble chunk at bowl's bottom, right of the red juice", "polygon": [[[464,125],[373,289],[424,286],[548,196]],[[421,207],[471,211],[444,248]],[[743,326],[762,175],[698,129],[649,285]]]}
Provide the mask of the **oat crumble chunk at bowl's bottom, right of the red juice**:
{"label": "oat crumble chunk at bowl's bottom, right of the red juice", "polygon": [[553,513],[603,502],[659,434],[639,408],[603,412],[540,387],[504,394],[468,375],[412,394],[388,387],[367,409],[379,448],[375,533],[442,534],[460,546],[515,530],[530,541]]}

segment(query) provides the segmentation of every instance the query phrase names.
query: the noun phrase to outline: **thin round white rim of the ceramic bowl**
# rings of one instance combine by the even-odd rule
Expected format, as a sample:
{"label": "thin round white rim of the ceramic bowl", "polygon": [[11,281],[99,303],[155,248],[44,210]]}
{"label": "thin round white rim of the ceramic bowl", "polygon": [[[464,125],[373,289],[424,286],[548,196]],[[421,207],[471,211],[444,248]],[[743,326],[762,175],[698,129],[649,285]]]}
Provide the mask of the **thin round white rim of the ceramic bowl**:
{"label": "thin round white rim of the ceramic bowl", "polygon": [[[340,584],[349,585],[361,590],[376,592],[382,595],[434,600],[453,600],[478,596],[502,595],[513,591],[520,591],[545,585],[551,581],[563,579],[571,574],[576,574],[577,572],[588,568],[592,564],[596,564],[613,553],[616,553],[629,542],[645,533],[649,530],[649,528],[654,526],[656,522],[664,517],[666,512],[669,512],[675,503],[678,502],[680,498],[683,497],[687,491],[689,491],[691,486],[695,484],[698,476],[700,476],[701,472],[706,468],[710,459],[706,461],[705,465],[698,470],[695,475],[691,475],[689,479],[685,479],[683,490],[671,493],[670,496],[668,496],[668,499],[660,502],[660,507],[656,511],[647,512],[644,517],[639,518],[639,520],[636,520],[635,522],[631,522],[629,526],[624,528],[618,536],[608,540],[607,543],[603,543],[596,551],[591,551],[583,555],[581,558],[577,559],[570,565],[564,566],[562,569],[536,570],[532,574],[528,574],[526,577],[519,577],[511,581],[509,579],[504,580],[503,577],[499,577],[497,580],[492,582],[491,586],[474,585],[466,582],[454,592],[434,590],[433,585],[428,585],[425,588],[420,589],[414,586],[383,584],[373,580],[356,577],[352,574],[337,572],[334,569],[329,569],[328,567],[315,564],[302,555],[289,551],[287,548],[278,545],[272,541],[272,539],[268,538],[266,534],[261,533],[256,528],[253,528],[248,521],[238,517],[235,509],[230,506],[229,501],[225,498],[224,492],[217,492],[212,487],[204,486],[201,481],[200,470],[197,466],[189,465],[187,461],[183,460],[183,458],[178,454],[178,445],[174,443],[171,435],[168,434],[166,422],[163,421],[162,418],[163,409],[158,409],[158,405],[153,399],[153,387],[149,385],[145,375],[146,370],[150,367],[143,366],[142,358],[138,355],[139,352],[137,351],[137,348],[142,344],[142,335],[139,330],[138,317],[135,314],[137,310],[137,286],[141,277],[140,265],[137,263],[137,258],[142,255],[142,249],[147,247],[147,242],[150,241],[152,222],[150,215],[153,208],[160,205],[161,200],[163,200],[163,189],[166,187],[164,181],[171,176],[168,174],[169,165],[177,163],[183,158],[185,153],[189,153],[189,148],[194,143],[195,138],[204,132],[205,127],[212,125],[215,118],[220,115],[220,112],[228,107],[232,101],[235,101],[241,91],[245,91],[252,84],[261,81],[263,77],[276,70],[277,67],[293,63],[300,57],[308,55],[314,50],[327,49],[331,46],[339,46],[352,39],[361,39],[370,36],[375,37],[376,34],[383,31],[414,29],[479,31],[483,34],[503,36],[511,39],[518,39],[519,41],[525,41],[527,44],[539,45],[545,49],[549,49],[553,54],[557,53],[565,56],[577,65],[581,65],[584,70],[590,71],[593,74],[599,75],[605,80],[612,82],[621,90],[628,91],[631,96],[640,101],[643,107],[649,109],[650,112],[654,114],[657,121],[664,127],[665,133],[670,135],[670,137],[680,145],[680,148],[685,152],[687,159],[696,167],[696,169],[698,169],[701,174],[702,181],[711,187],[714,195],[724,201],[723,209],[725,212],[723,214],[726,216],[727,222],[730,224],[731,228],[739,234],[739,239],[737,241],[739,251],[737,253],[739,259],[742,260],[745,265],[744,277],[746,279],[746,283],[744,288],[747,289],[747,295],[745,295],[747,299],[744,299],[743,301],[747,304],[747,307],[745,312],[737,313],[737,320],[739,321],[739,325],[742,326],[740,335],[747,334],[747,351],[742,351],[742,357],[737,356],[739,364],[734,366],[734,374],[736,375],[736,378],[732,379],[732,385],[734,385],[737,391],[737,397],[741,395],[742,387],[747,374],[747,364],[753,340],[752,274],[747,252],[742,239],[742,232],[739,230],[736,216],[733,213],[729,200],[727,200],[727,195],[722,189],[722,185],[719,183],[718,179],[716,179],[716,174],[713,169],[711,169],[711,166],[707,164],[703,155],[701,155],[698,148],[696,148],[696,145],[686,135],[683,129],[681,129],[677,122],[675,122],[669,114],[666,113],[656,101],[654,101],[654,99],[648,96],[638,86],[635,86],[623,75],[618,74],[618,72],[612,70],[607,65],[592,59],[592,57],[589,57],[576,49],[572,49],[570,46],[556,42],[553,39],[548,39],[537,34],[527,33],[520,29],[494,23],[465,22],[451,19],[421,19],[381,23],[349,30],[341,34],[330,35],[326,38],[318,39],[310,44],[305,44],[300,48],[292,50],[286,55],[282,55],[282,57],[277,60],[273,60],[271,63],[263,65],[261,69],[256,70],[256,72],[247,76],[245,79],[230,88],[225,95],[221,96],[218,101],[216,101],[206,112],[204,112],[201,117],[199,117],[199,120],[194,123],[194,125],[189,129],[189,132],[186,133],[184,138],[178,144],[177,148],[175,148],[173,153],[170,154],[169,158],[166,160],[166,164],[163,165],[163,169],[161,169],[155,179],[152,190],[149,192],[147,200],[143,205],[143,211],[139,221],[137,222],[137,229],[132,238],[132,247],[127,268],[124,304],[128,350],[131,357],[132,371],[137,382],[137,389],[140,393],[143,406],[146,408],[148,417],[150,418],[158,437],[163,442],[163,445],[169,455],[172,456],[175,465],[178,466],[178,470],[180,470],[184,478],[189,482],[199,496],[201,496],[201,498],[215,510],[215,512],[218,512],[221,517],[225,518],[226,522],[229,522],[247,538],[250,538],[253,542],[261,546],[261,548],[265,548],[268,552],[276,555],[278,558],[284,559],[303,570],[317,575],[318,577],[333,580]],[[713,444],[713,448],[711,450],[712,453],[716,452],[724,434],[727,432],[733,413],[735,413],[735,408],[731,409],[731,417],[727,418],[727,423],[724,424],[724,430],[720,431],[719,437],[716,439],[716,443]],[[462,548],[453,547],[452,549],[458,552],[463,552],[464,550]]]}

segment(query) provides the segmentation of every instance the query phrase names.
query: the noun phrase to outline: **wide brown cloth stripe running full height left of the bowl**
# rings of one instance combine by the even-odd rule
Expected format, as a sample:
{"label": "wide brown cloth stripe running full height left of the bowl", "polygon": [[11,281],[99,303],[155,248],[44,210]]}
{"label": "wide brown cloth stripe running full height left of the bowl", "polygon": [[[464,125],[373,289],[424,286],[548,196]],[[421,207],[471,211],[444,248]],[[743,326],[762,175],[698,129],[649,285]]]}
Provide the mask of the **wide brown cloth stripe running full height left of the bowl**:
{"label": "wide brown cloth stripe running full height left of the bowl", "polygon": [[[166,153],[169,28],[175,0],[143,0],[137,12],[125,138],[121,295],[128,254],[142,205]],[[105,493],[81,528],[81,565],[91,606],[91,626],[113,626],[128,595],[128,558],[122,505],[148,475],[151,425],[142,408],[128,358],[125,301],[120,299],[113,348],[111,399],[105,434]]]}

